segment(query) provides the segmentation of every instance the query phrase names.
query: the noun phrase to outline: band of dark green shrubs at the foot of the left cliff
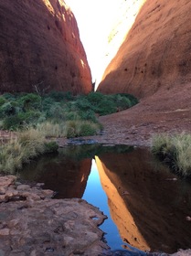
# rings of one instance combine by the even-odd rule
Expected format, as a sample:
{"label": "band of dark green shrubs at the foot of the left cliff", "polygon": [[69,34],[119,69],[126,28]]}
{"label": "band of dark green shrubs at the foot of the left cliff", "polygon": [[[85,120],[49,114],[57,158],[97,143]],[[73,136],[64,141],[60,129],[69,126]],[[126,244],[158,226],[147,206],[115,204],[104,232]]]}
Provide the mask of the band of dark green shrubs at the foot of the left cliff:
{"label": "band of dark green shrubs at the foot of the left cliff", "polygon": [[120,93],[104,95],[90,92],[78,96],[61,91],[51,91],[43,96],[37,93],[5,93],[0,96],[0,129],[19,131],[28,126],[37,128],[39,124],[46,126],[52,123],[55,127],[62,127],[59,127],[58,136],[92,135],[99,129],[101,131],[99,115],[128,109],[137,102],[133,95]]}

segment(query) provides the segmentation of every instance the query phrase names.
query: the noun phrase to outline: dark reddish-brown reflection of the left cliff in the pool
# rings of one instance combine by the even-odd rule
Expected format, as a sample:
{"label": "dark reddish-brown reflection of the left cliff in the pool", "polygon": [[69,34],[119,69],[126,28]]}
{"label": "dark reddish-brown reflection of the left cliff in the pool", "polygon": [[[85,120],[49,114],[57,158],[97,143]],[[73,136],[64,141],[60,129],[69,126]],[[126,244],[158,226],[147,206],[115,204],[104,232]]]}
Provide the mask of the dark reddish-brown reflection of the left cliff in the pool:
{"label": "dark reddish-brown reflection of the left cliff in the pool", "polygon": [[75,161],[67,156],[41,157],[27,165],[19,176],[44,183],[44,188],[57,191],[57,198],[83,196],[90,175],[91,159]]}

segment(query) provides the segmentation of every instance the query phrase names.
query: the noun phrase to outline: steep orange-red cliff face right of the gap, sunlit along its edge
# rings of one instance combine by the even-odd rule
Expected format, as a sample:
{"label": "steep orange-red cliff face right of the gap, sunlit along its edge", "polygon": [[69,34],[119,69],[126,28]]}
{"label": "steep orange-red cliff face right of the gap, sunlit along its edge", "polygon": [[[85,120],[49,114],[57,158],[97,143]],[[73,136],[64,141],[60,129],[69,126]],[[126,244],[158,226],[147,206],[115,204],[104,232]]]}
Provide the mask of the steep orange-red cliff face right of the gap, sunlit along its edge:
{"label": "steep orange-red cliff face right of the gap, sunlit along its edge", "polygon": [[[126,8],[130,2],[126,1]],[[98,91],[128,92],[143,98],[161,88],[179,85],[181,89],[191,81],[191,2],[145,0],[140,6]]]}

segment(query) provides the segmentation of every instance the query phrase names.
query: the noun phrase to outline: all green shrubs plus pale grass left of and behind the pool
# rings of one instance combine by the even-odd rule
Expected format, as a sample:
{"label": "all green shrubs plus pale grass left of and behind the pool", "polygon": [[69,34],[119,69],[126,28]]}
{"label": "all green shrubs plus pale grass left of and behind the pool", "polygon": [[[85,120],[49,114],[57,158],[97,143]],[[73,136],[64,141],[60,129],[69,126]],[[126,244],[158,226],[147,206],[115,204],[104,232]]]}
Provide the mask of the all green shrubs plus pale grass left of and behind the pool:
{"label": "all green shrubs plus pale grass left of and behind the pool", "polygon": [[138,101],[130,94],[90,92],[5,93],[0,96],[0,129],[18,132],[0,144],[0,171],[14,173],[32,158],[58,150],[49,138],[75,138],[101,133],[99,115],[128,109]]}

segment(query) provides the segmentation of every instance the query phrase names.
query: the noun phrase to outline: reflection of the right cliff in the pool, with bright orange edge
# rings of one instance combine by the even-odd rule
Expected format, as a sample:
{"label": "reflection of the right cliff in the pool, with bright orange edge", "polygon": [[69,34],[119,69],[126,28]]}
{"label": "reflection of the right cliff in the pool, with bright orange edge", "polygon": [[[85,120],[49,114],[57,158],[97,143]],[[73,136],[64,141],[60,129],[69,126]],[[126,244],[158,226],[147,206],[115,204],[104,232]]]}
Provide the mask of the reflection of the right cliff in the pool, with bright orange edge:
{"label": "reflection of the right cliff in the pool, with bright orange edge", "polygon": [[[191,187],[155,170],[144,149],[96,156],[111,218],[122,239],[140,250],[169,253],[191,247]],[[164,169],[164,166],[163,166]]]}

